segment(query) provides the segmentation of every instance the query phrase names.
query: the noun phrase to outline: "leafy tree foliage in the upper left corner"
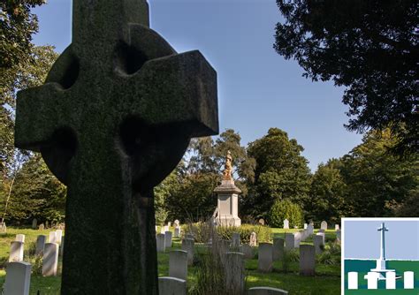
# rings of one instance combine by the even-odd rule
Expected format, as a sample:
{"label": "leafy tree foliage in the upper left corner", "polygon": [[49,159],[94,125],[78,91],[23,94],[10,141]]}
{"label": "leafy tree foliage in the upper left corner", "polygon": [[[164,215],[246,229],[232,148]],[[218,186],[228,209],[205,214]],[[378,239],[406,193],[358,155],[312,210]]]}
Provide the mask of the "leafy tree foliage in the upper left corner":
{"label": "leafy tree foliage in the upper left corner", "polygon": [[0,72],[27,60],[34,46],[32,34],[38,32],[38,19],[30,9],[44,3],[45,0],[0,3]]}

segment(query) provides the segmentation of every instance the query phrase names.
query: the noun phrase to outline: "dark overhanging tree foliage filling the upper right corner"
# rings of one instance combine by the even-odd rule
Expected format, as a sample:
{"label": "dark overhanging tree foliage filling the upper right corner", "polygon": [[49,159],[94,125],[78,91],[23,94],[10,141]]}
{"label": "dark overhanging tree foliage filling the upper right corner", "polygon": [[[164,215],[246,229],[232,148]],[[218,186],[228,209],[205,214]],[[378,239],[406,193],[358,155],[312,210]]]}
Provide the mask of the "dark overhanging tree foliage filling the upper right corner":
{"label": "dark overhanging tree foliage filling the upper right corner", "polygon": [[274,49],[294,58],[306,78],[347,87],[348,130],[396,136],[394,151],[416,152],[417,3],[396,1],[277,0],[284,20]]}

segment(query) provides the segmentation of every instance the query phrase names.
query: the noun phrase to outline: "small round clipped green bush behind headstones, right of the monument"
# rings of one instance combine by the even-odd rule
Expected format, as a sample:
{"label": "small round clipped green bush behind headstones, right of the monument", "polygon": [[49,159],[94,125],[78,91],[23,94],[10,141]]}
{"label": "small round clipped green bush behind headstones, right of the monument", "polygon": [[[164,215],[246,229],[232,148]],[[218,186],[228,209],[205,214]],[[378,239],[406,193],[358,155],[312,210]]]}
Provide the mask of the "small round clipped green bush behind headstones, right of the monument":
{"label": "small round clipped green bush behind headstones, right of the monument", "polygon": [[290,228],[301,226],[304,223],[302,209],[290,200],[277,200],[270,208],[269,223],[272,227],[284,226],[284,219],[288,219]]}

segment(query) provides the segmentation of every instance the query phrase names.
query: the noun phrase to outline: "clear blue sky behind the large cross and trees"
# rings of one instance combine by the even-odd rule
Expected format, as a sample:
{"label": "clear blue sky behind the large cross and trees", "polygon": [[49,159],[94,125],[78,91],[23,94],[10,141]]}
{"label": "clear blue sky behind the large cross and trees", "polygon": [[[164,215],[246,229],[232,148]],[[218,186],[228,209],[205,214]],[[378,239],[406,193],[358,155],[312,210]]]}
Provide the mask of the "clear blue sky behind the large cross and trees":
{"label": "clear blue sky behind the large cross and trees", "polygon": [[[347,154],[362,136],[347,132],[343,88],[301,77],[301,67],[272,48],[281,18],[274,0],[150,0],[151,28],[178,52],[199,49],[217,70],[220,131],[242,145],[278,127],[305,148],[311,170]],[[71,42],[72,1],[49,0],[34,12],[37,45],[61,52]]]}

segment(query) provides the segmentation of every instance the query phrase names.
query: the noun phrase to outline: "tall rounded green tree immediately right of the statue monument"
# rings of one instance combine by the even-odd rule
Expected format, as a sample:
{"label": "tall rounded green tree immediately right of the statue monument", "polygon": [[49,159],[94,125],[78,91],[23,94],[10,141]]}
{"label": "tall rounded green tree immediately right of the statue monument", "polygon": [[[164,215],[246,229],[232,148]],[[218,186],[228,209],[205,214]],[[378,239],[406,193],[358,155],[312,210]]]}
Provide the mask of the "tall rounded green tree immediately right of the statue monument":
{"label": "tall rounded green tree immediately right of the statue monument", "polygon": [[305,207],[309,197],[310,171],[304,150],[297,140],[278,128],[270,128],[262,139],[248,145],[255,158],[255,185],[252,186],[254,216],[266,217],[276,200],[291,200]]}

